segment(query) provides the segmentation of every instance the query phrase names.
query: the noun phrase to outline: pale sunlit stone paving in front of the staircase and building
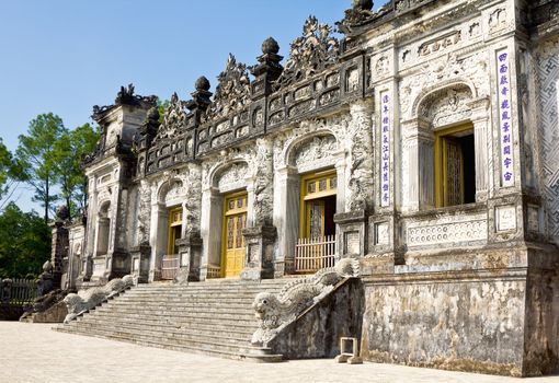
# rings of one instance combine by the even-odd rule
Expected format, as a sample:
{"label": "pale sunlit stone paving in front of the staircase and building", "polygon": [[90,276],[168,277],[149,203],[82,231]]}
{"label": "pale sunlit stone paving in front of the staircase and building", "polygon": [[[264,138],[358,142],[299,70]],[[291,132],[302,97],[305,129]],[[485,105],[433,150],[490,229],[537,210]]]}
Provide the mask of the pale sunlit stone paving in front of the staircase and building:
{"label": "pale sunlit stone paving in front of the staircase and building", "polygon": [[53,332],[53,325],[0,322],[0,383],[87,382],[556,382],[392,364],[297,360],[258,364]]}

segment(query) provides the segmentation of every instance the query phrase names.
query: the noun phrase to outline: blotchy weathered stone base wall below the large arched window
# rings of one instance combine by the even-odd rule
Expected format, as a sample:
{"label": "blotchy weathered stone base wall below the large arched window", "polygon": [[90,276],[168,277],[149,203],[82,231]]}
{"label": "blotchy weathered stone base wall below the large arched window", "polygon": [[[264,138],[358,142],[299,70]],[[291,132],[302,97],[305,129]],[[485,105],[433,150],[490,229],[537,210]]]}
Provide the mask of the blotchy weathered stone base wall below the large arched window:
{"label": "blotchy weathered stone base wall below the large arched window", "polygon": [[367,278],[362,356],[376,362],[522,375],[523,275]]}

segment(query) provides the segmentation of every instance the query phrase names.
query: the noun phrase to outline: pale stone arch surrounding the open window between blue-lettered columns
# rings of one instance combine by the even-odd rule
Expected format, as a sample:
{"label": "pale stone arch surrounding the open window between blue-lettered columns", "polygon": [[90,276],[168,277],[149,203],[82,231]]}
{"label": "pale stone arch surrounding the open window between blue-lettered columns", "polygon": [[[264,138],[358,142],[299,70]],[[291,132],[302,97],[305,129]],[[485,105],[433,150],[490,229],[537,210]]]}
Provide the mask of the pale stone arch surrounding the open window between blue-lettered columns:
{"label": "pale stone arch surrounding the open window between blue-lettered columns", "polygon": [[[476,89],[466,81],[438,84],[424,90],[414,101],[413,118],[402,124],[404,155],[403,209],[418,210],[444,206],[438,202],[436,172],[440,137],[460,126],[470,126],[472,162],[475,161],[475,200],[487,194],[487,124],[483,103],[476,100]],[[466,128],[469,129],[469,128]],[[437,167],[435,170],[435,167]]]}

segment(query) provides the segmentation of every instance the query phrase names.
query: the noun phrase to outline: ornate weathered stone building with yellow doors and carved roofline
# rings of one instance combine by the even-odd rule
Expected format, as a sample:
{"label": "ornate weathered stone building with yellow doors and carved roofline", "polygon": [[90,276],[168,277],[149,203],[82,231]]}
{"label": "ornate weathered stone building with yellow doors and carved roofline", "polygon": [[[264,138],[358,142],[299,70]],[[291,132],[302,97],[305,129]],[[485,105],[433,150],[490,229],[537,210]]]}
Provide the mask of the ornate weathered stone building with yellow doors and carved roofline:
{"label": "ornate weathered stone building with yellow doors and carved roofline", "polygon": [[[162,116],[94,108],[66,282],[360,262],[367,360],[559,370],[559,2],[354,1]],[[341,15],[342,16],[342,15]],[[283,63],[282,63],[283,62]]]}

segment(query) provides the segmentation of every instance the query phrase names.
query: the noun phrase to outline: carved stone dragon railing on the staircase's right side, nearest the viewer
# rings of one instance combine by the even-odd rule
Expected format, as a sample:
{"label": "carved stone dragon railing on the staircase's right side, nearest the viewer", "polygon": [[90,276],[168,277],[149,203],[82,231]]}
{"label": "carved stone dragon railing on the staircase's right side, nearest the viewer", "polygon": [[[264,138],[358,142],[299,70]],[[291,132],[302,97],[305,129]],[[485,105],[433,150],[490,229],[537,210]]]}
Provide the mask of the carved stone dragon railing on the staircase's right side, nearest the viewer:
{"label": "carved stone dragon railing on the staircase's right side, nearest the viewer", "polygon": [[259,293],[252,306],[259,328],[252,335],[254,346],[267,347],[283,328],[295,322],[307,309],[327,297],[340,282],[360,275],[360,263],[343,258],[334,267],[297,279],[286,285],[280,293]]}

